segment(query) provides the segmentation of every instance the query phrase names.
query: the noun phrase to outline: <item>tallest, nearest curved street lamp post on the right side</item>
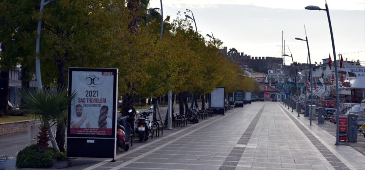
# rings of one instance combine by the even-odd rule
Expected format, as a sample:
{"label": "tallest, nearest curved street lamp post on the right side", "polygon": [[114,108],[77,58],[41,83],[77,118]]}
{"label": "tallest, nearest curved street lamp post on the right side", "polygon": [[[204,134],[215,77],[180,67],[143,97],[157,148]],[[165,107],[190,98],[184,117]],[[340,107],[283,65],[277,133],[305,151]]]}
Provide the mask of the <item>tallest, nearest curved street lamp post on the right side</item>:
{"label": "tallest, nearest curved street lamp post on the right side", "polygon": [[339,89],[338,89],[338,73],[337,73],[337,61],[336,61],[336,50],[335,50],[335,42],[333,40],[333,31],[332,31],[332,24],[331,24],[331,19],[329,17],[329,9],[328,9],[328,5],[327,2],[325,3],[325,9],[321,9],[318,6],[306,6],[304,9],[308,9],[308,10],[319,10],[319,11],[326,11],[327,13],[327,19],[328,19],[328,25],[329,25],[329,32],[331,34],[331,41],[332,41],[332,50],[333,50],[333,59],[334,59],[334,64],[335,64],[335,78],[336,78],[336,112],[337,112],[337,120],[336,120],[336,144],[335,145],[340,145],[340,141],[339,141],[339,118],[340,118],[340,96],[339,96]]}

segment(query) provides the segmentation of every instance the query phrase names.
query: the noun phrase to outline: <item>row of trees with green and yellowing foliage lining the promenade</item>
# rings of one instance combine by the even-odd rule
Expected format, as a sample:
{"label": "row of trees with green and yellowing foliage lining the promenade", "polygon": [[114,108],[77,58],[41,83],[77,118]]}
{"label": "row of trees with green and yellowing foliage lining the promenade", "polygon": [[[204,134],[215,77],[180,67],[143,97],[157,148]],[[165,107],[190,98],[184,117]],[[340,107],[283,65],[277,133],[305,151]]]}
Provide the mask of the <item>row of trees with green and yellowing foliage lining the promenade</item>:
{"label": "row of trees with green and yellowing foliage lining the promenade", "polygon": [[42,17],[44,86],[67,86],[69,67],[118,68],[118,94],[126,113],[136,98],[158,97],[168,90],[202,95],[216,86],[225,86],[228,93],[254,90],[253,80],[219,51],[222,42],[206,40],[181,12],[173,21],[164,20],[160,40],[161,16],[147,7],[148,1],[55,0],[40,14],[38,1],[0,0],[1,73],[21,64],[21,79],[28,85]]}

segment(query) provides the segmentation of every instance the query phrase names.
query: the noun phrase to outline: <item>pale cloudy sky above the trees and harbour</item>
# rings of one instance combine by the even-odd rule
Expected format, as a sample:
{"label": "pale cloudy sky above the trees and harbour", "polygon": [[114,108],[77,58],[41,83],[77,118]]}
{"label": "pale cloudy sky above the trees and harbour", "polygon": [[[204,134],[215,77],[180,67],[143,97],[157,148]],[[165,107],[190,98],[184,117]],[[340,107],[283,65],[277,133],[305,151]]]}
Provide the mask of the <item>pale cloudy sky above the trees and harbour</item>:
{"label": "pale cloudy sky above the trees and harbour", "polygon": [[[330,53],[331,36],[325,11],[305,10],[308,5],[325,8],[325,0],[162,0],[164,18],[176,18],[186,8],[194,13],[198,32],[213,33],[222,46],[236,48],[252,57],[281,57],[282,31],[285,54],[294,62],[307,63],[304,25],[311,62],[322,62]],[[365,61],[365,0],[327,0],[336,54],[344,60]],[[150,0],[160,8],[160,0]],[[189,14],[191,16],[191,13]],[[338,56],[336,56],[338,59]],[[291,58],[285,58],[290,64]]]}

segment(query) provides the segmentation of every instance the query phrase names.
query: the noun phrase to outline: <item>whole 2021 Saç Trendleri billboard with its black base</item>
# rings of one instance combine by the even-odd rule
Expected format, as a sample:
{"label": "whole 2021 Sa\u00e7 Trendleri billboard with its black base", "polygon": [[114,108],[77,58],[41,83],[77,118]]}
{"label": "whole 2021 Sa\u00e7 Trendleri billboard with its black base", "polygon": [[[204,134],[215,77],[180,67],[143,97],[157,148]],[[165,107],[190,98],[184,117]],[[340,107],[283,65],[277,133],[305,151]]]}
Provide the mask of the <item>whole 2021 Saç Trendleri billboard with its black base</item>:
{"label": "whole 2021 Sa\u00e7 Trendleri billboard with its black base", "polygon": [[69,68],[67,157],[115,158],[118,69]]}

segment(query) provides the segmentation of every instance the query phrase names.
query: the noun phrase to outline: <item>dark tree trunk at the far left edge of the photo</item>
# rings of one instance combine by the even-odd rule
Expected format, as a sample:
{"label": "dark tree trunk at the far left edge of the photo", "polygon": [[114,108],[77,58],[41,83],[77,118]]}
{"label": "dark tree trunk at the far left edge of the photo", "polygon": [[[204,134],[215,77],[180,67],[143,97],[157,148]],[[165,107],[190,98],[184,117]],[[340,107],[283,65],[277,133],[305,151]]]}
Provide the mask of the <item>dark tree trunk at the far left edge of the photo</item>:
{"label": "dark tree trunk at the far left edge of the photo", "polygon": [[9,69],[0,71],[0,117],[8,111]]}

